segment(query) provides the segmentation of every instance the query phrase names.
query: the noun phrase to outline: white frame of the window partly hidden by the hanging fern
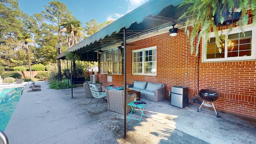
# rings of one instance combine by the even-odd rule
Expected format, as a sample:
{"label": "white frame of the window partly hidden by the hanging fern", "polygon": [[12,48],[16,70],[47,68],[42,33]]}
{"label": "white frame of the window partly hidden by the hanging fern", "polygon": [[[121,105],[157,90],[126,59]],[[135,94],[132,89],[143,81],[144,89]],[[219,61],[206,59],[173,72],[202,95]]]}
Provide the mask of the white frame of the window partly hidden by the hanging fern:
{"label": "white frame of the window partly hidden by the hanging fern", "polygon": [[[251,24],[244,27],[244,32],[252,31],[252,51],[251,56],[238,56],[238,57],[228,57],[228,49],[225,47],[224,58],[210,58],[206,59],[207,52],[204,48],[204,39],[202,40],[202,62],[226,62],[226,61],[243,61],[243,60],[256,60],[256,26]],[[227,34],[228,30],[223,30],[223,34]],[[241,32],[239,28],[233,28],[230,34],[236,34]],[[214,32],[210,34],[210,38],[214,38]],[[225,44],[227,45],[227,44]]]}

